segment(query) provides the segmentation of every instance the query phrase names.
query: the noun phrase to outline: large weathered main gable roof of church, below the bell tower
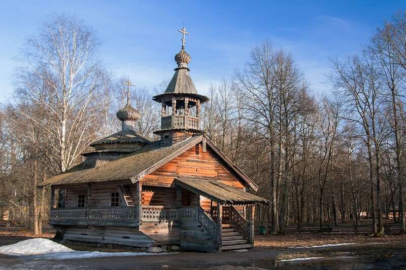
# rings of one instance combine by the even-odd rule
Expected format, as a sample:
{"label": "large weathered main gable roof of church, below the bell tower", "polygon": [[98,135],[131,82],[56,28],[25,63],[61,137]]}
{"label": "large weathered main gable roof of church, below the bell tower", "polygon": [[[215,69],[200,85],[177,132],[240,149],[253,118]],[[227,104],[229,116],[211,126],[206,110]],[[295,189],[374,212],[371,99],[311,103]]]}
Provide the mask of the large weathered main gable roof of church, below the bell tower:
{"label": "large weathered main gable roof of church, below the bell tower", "polygon": [[41,182],[40,185],[63,185],[120,180],[130,180],[132,183],[135,183],[202,140],[205,140],[209,148],[219,157],[219,162],[225,166],[236,179],[253,188],[255,191],[258,190],[258,186],[228,160],[224,153],[205,135],[194,135],[186,140],[166,147],[161,147],[160,141],[150,142],[122,158],[95,168],[82,169],[82,164],[79,164],[60,175],[46,179]]}

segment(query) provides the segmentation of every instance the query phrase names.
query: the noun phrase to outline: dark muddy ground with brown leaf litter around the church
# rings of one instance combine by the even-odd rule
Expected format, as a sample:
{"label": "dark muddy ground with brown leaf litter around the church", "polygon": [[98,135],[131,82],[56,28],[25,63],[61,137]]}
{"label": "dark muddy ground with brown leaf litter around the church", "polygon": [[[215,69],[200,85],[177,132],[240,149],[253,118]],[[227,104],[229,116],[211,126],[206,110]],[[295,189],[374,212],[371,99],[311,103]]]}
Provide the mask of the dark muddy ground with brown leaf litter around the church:
{"label": "dark muddy ground with brown leaf litter around the church", "polygon": [[[27,232],[0,232],[0,246],[32,238]],[[52,238],[53,234],[40,237]],[[357,243],[324,248],[289,248]],[[108,250],[103,250],[108,251]],[[118,251],[118,250],[111,250]],[[281,261],[317,257],[304,261]],[[158,256],[129,256],[71,260],[23,260],[0,255],[0,269],[393,269],[406,268],[406,236],[373,238],[354,235],[256,236],[253,250],[221,253],[181,252]]]}

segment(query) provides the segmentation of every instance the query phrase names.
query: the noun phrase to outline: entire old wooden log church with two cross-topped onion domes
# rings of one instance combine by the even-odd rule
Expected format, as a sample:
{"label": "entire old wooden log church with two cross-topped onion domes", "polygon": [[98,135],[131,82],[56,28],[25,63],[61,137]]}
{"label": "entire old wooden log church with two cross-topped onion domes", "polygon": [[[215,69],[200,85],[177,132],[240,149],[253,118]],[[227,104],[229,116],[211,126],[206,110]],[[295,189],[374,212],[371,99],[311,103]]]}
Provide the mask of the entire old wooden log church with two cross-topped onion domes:
{"label": "entire old wooden log church with two cross-topped onion domes", "polygon": [[[117,112],[122,130],[91,143],[83,163],[47,179],[50,224],[63,239],[133,247],[179,245],[181,250],[252,248],[254,205],[268,201],[258,186],[200,130],[199,95],[182,49],[164,93],[161,128],[151,141],[137,133],[129,100]],[[129,88],[129,82],[127,82]],[[63,200],[54,203],[55,192]],[[57,206],[57,207],[56,207]]]}

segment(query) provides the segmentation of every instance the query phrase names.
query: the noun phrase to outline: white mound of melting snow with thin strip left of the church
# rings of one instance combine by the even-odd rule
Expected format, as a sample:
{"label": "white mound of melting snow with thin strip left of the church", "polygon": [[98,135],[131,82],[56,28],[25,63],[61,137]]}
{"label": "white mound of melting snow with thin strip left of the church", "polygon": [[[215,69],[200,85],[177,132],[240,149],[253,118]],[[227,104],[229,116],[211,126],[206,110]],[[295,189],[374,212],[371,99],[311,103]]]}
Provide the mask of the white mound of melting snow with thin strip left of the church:
{"label": "white mound of melting snow with thin strip left of the church", "polygon": [[[147,253],[147,252],[99,252],[99,251],[75,251],[49,239],[33,238],[16,244],[0,247],[0,253],[6,255],[20,256],[22,259],[83,259],[96,257],[116,256],[141,256],[141,255],[163,255],[172,253]],[[175,252],[177,253],[177,252]]]}

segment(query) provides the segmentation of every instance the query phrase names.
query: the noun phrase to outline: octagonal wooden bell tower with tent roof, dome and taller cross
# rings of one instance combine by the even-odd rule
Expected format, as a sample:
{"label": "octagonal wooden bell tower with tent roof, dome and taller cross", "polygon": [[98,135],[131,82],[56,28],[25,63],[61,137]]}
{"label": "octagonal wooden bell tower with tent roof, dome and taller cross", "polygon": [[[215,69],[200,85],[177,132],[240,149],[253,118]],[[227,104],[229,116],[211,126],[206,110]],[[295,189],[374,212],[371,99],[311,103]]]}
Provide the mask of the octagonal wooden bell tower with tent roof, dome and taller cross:
{"label": "octagonal wooden bell tower with tent roof, dome and taller cross", "polygon": [[200,105],[209,99],[199,95],[190,78],[187,67],[191,57],[185,51],[186,28],[183,27],[182,49],[175,55],[178,65],[175,74],[164,93],[156,95],[153,100],[162,104],[161,129],[154,133],[161,138],[161,146],[168,146],[202,133],[200,130]]}

